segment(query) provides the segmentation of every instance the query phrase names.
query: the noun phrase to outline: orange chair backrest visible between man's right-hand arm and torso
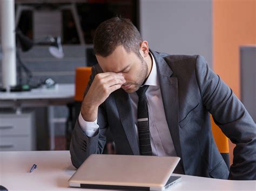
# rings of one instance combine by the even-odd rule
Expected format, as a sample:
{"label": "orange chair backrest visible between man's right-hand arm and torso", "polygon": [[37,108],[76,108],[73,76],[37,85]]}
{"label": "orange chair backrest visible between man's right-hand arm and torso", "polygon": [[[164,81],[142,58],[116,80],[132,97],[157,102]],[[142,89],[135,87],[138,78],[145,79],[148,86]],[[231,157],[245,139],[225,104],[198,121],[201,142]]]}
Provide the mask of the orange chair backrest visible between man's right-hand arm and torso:
{"label": "orange chair backrest visible between man's right-hand arm and torso", "polygon": [[212,134],[219,149],[220,154],[225,160],[227,167],[230,167],[230,149],[228,146],[228,138],[220,130],[220,128],[214,123],[214,120],[211,115],[211,124],[212,124]]}

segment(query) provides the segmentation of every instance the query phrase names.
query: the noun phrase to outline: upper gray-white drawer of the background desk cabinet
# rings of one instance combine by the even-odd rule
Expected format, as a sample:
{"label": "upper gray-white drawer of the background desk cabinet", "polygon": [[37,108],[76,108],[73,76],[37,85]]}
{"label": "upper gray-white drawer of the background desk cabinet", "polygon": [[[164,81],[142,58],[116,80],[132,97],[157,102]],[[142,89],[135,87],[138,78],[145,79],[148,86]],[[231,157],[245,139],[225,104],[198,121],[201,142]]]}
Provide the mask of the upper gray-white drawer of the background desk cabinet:
{"label": "upper gray-white drawer of the background desk cabinet", "polygon": [[0,114],[0,137],[13,135],[31,135],[31,114]]}

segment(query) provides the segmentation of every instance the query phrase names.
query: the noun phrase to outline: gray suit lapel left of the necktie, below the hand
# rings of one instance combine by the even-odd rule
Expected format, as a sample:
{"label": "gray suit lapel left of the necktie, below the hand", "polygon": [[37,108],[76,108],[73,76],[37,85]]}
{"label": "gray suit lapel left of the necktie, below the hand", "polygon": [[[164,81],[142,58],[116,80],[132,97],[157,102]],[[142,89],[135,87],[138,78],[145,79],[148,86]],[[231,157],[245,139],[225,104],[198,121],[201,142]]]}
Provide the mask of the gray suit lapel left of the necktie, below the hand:
{"label": "gray suit lapel left of the necktie, below the hand", "polygon": [[114,91],[114,98],[116,100],[120,121],[122,122],[132,152],[134,155],[139,155],[139,145],[134,127],[130,96],[123,89],[118,89]]}

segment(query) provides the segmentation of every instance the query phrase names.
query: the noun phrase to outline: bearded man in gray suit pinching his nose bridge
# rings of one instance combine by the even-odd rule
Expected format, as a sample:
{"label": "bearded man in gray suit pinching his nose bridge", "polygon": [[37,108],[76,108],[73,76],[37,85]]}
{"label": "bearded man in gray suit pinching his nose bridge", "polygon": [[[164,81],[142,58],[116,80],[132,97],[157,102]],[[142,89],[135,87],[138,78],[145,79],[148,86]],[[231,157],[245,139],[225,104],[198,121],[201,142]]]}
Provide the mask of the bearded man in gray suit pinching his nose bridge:
{"label": "bearded man in gray suit pinching his nose bridge", "polygon": [[[110,128],[117,154],[178,156],[176,173],[256,179],[255,123],[202,56],[154,52],[130,20],[118,17],[99,25],[93,44],[98,65],[71,138],[75,167],[103,152]],[[237,144],[230,172],[209,112]]]}

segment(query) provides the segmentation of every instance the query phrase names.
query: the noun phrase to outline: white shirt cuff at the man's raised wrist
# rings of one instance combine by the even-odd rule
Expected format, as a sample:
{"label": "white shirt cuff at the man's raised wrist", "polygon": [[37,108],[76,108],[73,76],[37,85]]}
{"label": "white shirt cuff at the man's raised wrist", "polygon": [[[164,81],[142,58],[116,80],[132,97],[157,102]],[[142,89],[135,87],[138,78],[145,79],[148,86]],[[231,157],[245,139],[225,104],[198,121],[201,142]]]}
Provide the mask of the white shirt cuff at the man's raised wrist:
{"label": "white shirt cuff at the man's raised wrist", "polygon": [[78,123],[80,125],[80,128],[86,134],[86,136],[93,137],[93,136],[97,135],[98,129],[99,129],[99,125],[97,124],[97,118],[94,122],[86,122],[80,112],[80,114],[78,116]]}

